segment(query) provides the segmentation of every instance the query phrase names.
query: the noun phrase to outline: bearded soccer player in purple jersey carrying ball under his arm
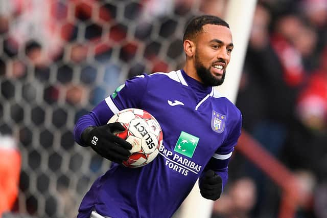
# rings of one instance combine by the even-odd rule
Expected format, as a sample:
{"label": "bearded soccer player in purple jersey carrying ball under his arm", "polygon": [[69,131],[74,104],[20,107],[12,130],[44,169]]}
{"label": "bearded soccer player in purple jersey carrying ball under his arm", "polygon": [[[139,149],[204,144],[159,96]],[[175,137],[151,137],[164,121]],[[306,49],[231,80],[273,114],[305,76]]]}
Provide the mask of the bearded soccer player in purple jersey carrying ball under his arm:
{"label": "bearded soccer player in purple jersey carrying ball under his arm", "polygon": [[[238,108],[213,88],[223,83],[233,49],[229,25],[216,16],[195,17],[183,48],[183,69],[127,80],[78,120],[77,143],[112,161],[85,194],[79,218],[171,217],[197,179],[204,198],[220,197],[242,123]],[[125,130],[120,123],[107,124],[131,107],[152,114],[164,134],[159,155],[139,168],[122,166],[131,145],[112,134]]]}

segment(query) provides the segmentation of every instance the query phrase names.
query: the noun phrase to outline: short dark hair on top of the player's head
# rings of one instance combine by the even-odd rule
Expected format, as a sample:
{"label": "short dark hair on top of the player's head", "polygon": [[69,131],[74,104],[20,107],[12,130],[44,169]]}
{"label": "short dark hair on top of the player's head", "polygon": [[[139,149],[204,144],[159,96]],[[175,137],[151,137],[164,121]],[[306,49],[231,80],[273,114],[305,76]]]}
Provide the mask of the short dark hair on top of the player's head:
{"label": "short dark hair on top of the player's head", "polygon": [[225,26],[229,29],[227,22],[220,17],[212,15],[197,16],[191,19],[188,25],[186,25],[183,41],[185,41],[185,39],[194,39],[203,31],[202,27],[206,24]]}

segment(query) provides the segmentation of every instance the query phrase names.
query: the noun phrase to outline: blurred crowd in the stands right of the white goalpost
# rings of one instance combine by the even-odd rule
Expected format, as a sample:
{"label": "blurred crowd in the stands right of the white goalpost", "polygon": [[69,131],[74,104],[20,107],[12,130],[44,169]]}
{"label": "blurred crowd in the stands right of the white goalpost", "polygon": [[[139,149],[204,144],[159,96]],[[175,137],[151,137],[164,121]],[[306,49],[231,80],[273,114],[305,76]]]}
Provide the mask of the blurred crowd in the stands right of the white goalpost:
{"label": "blurred crowd in the stands right of the white goalpost", "polygon": [[[237,106],[244,130],[294,173],[296,217],[327,216],[326,63],[327,1],[259,1]],[[277,217],[281,188],[240,154],[231,164],[227,196],[243,201],[227,211],[217,202],[218,217]]]}

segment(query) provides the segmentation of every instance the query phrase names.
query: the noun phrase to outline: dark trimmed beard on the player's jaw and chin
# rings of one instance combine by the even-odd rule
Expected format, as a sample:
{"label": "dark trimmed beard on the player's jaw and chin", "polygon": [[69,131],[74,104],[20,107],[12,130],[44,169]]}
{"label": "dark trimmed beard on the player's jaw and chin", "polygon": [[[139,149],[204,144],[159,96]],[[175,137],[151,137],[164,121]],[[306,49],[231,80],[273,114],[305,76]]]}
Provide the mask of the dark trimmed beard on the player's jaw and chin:
{"label": "dark trimmed beard on the player's jaw and chin", "polygon": [[[221,61],[225,62],[224,60],[221,60]],[[212,66],[210,66],[209,68],[205,68],[203,66],[203,64],[201,63],[201,61],[199,60],[198,55],[195,54],[196,73],[200,77],[203,84],[206,85],[206,86],[221,85],[224,82],[226,70],[224,69],[224,73],[223,73],[222,77],[219,79],[219,78],[216,78],[216,77],[214,77],[212,75],[212,73],[210,72],[211,68],[212,68]]]}

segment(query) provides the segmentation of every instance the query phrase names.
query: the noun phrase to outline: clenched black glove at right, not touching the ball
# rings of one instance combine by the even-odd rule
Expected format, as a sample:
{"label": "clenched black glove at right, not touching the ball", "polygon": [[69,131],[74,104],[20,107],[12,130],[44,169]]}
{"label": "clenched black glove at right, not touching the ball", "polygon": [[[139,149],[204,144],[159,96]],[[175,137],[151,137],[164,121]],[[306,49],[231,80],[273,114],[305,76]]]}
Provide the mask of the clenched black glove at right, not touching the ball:
{"label": "clenched black glove at right, not touching the ball", "polygon": [[204,177],[199,183],[200,193],[203,198],[216,201],[220,198],[222,180],[213,170],[205,172]]}

